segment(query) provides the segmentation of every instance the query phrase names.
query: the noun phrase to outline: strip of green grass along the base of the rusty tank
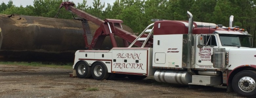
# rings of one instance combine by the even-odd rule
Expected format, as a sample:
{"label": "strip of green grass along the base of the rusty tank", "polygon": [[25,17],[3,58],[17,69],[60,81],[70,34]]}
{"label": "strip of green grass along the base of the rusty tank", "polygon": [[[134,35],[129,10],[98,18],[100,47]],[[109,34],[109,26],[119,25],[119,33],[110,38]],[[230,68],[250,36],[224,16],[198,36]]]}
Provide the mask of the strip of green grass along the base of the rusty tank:
{"label": "strip of green grass along the base of the rusty tank", "polygon": [[64,68],[72,69],[73,63],[54,63],[54,62],[0,62],[0,64],[19,65],[19,66],[33,66],[33,67],[50,67],[50,68]]}

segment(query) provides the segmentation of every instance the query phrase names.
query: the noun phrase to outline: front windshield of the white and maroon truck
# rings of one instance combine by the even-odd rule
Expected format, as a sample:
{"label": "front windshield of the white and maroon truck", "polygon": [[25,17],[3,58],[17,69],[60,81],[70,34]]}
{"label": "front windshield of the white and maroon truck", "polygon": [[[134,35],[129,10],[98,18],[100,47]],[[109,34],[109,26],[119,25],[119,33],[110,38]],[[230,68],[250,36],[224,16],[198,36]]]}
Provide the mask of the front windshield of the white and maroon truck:
{"label": "front windshield of the white and maroon truck", "polygon": [[250,47],[248,35],[219,34],[222,46]]}

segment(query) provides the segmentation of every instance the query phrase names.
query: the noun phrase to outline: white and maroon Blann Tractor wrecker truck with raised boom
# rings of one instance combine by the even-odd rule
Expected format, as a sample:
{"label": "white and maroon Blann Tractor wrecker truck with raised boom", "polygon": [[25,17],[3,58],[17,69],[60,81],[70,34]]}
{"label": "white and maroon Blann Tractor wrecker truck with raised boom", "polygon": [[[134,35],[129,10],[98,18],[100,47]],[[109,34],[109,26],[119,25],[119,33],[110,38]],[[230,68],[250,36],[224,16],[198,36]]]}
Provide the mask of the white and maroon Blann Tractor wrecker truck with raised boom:
{"label": "white and maroon Blann Tractor wrecker truck with raised boom", "polygon": [[[96,80],[127,76],[144,79],[154,76],[158,82],[189,86],[227,86],[243,97],[256,97],[256,49],[253,39],[244,29],[212,23],[153,20],[139,35],[122,29],[123,21],[104,21],[63,2],[65,7],[82,21],[85,50],[75,52],[73,69],[78,78]],[[100,25],[90,37],[86,22]],[[109,36],[113,48],[99,50]],[[123,39],[125,47],[118,47],[115,37]]]}

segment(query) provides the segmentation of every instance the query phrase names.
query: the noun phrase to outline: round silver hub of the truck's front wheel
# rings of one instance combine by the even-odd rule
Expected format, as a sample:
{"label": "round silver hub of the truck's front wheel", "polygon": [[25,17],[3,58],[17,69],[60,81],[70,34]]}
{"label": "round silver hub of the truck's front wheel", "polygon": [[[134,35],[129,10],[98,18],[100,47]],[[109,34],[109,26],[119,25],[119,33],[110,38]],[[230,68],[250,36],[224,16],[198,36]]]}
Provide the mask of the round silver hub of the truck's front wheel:
{"label": "round silver hub of the truck's front wheel", "polygon": [[251,92],[255,89],[256,84],[253,78],[245,76],[239,80],[238,86],[241,90],[245,92]]}

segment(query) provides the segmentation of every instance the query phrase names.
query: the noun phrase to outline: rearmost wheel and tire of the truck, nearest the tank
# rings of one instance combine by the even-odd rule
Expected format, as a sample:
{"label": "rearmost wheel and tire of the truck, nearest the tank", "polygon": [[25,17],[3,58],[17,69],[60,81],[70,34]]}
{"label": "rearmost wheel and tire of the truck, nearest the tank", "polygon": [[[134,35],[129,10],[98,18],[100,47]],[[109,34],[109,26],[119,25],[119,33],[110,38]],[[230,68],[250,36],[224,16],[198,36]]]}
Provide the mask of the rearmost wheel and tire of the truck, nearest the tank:
{"label": "rearmost wheel and tire of the truck, nearest the tank", "polygon": [[85,62],[78,62],[75,65],[75,72],[78,78],[89,78],[91,74],[91,66],[88,66]]}

